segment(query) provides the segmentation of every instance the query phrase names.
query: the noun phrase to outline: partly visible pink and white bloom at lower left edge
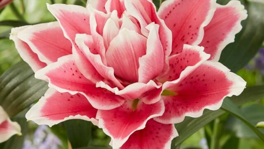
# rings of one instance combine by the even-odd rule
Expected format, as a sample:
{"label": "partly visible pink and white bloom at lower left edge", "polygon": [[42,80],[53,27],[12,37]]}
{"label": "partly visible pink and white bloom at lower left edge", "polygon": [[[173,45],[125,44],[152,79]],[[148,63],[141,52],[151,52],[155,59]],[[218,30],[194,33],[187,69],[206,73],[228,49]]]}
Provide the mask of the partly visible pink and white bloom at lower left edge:
{"label": "partly visible pink and white bloom at lower left edge", "polygon": [[8,140],[13,135],[21,135],[21,128],[17,122],[12,122],[8,114],[0,106],[0,143]]}

